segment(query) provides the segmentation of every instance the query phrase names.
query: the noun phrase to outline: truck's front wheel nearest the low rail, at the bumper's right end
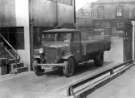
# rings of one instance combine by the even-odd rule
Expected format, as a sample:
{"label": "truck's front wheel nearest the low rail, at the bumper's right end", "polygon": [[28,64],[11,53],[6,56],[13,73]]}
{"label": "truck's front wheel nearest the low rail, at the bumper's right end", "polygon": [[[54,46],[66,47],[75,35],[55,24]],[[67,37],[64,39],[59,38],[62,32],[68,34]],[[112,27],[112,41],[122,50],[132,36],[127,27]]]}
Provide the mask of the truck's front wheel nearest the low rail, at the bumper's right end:
{"label": "truck's front wheel nearest the low rail, at the bumper's right end", "polygon": [[63,68],[63,74],[66,77],[70,77],[74,74],[75,71],[75,60],[73,58],[69,58],[67,61],[64,61],[65,66]]}

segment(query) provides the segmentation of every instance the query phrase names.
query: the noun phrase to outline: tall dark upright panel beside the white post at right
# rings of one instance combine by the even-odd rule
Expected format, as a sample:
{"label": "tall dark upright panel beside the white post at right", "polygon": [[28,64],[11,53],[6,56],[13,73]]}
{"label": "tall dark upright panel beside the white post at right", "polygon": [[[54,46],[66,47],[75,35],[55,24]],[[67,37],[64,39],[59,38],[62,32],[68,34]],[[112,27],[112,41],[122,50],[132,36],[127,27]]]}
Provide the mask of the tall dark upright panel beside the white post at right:
{"label": "tall dark upright panel beside the white post at right", "polygon": [[132,60],[132,24],[125,23],[124,30],[124,62]]}

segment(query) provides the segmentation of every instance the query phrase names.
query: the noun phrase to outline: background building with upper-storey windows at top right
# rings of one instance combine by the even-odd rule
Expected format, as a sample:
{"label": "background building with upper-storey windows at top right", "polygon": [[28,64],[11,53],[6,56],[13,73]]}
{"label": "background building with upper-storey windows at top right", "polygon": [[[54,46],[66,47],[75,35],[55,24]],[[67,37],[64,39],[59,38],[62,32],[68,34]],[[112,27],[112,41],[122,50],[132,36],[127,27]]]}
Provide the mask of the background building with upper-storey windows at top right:
{"label": "background building with upper-storey windows at top right", "polygon": [[135,19],[135,0],[98,0],[91,4],[91,17],[96,28],[123,29],[124,22]]}

